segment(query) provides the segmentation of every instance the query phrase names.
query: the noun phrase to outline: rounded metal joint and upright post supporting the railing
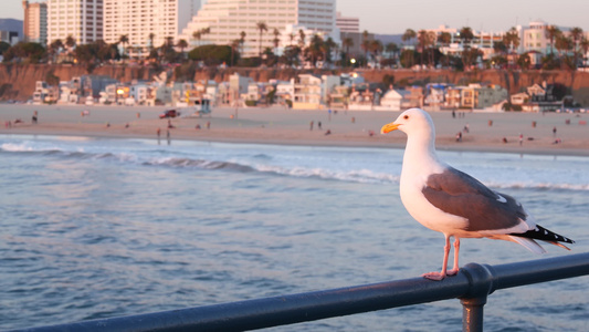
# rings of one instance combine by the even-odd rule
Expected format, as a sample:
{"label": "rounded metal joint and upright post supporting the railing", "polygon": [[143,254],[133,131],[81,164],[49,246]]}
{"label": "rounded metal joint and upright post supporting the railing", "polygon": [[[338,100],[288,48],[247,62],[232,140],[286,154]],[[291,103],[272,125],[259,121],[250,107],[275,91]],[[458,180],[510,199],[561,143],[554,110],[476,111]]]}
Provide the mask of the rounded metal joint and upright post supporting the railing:
{"label": "rounded metal joint and upright post supporting the railing", "polygon": [[461,271],[469,279],[469,292],[460,299],[462,303],[462,331],[482,332],[486,298],[495,288],[495,273],[490,266],[466,264]]}

